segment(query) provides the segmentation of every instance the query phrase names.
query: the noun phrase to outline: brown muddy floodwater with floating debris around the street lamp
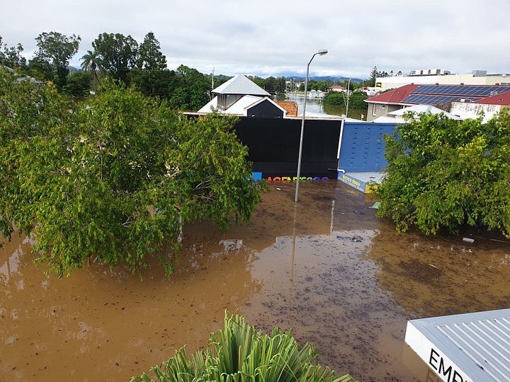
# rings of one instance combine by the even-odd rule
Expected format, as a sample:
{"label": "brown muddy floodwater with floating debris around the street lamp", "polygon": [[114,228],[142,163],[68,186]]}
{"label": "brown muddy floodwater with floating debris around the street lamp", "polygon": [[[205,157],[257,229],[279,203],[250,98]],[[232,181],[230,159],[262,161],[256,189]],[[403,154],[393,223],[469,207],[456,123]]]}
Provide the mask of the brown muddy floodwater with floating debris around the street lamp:
{"label": "brown muddy floodwater with floating debris around the street lamp", "polygon": [[302,184],[297,207],[293,184],[269,188],[249,226],[185,227],[171,279],[155,260],[142,280],[100,265],[46,276],[13,236],[0,249],[0,380],[124,381],[205,345],[227,309],[293,328],[360,381],[426,381],[408,319],[510,306],[509,243],[399,234],[341,183]]}

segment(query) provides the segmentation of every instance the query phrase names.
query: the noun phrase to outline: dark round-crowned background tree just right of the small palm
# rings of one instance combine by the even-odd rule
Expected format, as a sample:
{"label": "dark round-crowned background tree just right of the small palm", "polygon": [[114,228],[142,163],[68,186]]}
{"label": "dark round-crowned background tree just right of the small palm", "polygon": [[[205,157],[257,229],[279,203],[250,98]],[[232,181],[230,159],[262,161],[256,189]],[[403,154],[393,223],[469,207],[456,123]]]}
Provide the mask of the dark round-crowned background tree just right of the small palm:
{"label": "dark round-crowned background tree just right of the small palm", "polygon": [[130,35],[101,33],[92,42],[101,59],[101,67],[113,79],[128,83],[128,74],[138,59],[138,43]]}

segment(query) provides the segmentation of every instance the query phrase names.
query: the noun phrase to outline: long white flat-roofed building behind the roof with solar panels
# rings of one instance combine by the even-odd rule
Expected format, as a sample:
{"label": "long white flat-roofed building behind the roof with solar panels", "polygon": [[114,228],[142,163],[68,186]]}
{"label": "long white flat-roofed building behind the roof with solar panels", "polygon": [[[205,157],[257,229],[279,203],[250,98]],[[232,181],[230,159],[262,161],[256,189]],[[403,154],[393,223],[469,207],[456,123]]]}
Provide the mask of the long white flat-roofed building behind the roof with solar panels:
{"label": "long white flat-roofed building behind the roof with solar panels", "polygon": [[443,69],[419,69],[409,76],[378,77],[375,87],[381,91],[410,85],[510,85],[510,74],[487,74],[485,70],[475,70],[470,74],[450,74]]}

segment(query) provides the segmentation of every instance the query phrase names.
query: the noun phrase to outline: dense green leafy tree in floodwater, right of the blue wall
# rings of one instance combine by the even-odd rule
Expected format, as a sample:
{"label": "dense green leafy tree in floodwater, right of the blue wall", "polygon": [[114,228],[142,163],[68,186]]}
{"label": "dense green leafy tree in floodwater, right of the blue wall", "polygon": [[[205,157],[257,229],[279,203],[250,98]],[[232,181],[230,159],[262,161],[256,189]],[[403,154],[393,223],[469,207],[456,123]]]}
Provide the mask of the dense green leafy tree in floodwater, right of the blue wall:
{"label": "dense green leafy tree in floodwater, right of the blue wall", "polygon": [[411,115],[386,137],[387,176],[378,187],[379,216],[399,231],[427,234],[460,226],[510,236],[510,113],[487,123]]}

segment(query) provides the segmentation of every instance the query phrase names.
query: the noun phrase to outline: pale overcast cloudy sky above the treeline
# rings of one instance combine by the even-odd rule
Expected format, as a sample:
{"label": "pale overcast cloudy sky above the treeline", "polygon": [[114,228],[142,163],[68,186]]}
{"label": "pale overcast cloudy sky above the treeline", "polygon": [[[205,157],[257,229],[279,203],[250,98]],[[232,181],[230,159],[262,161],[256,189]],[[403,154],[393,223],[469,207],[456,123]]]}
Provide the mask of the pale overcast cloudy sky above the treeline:
{"label": "pale overcast cloudy sky above the treeline", "polygon": [[55,30],[81,36],[79,57],[99,33],[152,30],[171,69],[216,74],[296,73],[319,49],[313,75],[366,78],[386,71],[441,68],[510,72],[510,0],[145,0],[2,1],[0,35],[21,42]]}

